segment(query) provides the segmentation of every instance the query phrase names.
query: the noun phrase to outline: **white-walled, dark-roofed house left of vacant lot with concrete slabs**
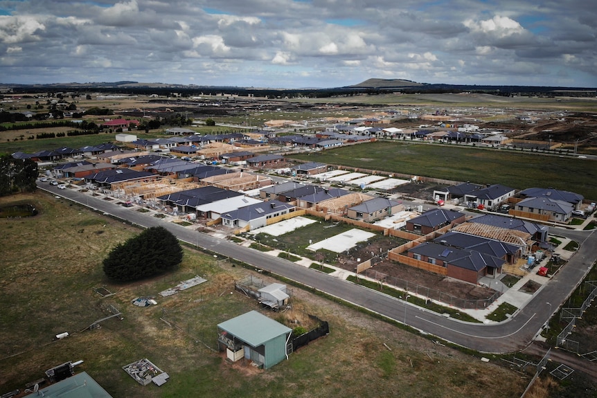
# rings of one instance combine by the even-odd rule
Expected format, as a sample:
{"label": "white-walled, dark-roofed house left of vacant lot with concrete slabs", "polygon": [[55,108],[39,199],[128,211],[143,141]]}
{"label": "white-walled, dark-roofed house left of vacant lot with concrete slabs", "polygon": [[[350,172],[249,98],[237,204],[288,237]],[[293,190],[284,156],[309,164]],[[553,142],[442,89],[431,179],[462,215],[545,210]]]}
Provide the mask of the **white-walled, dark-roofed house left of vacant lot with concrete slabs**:
{"label": "white-walled, dark-roofed house left of vacant lot with concrete slabs", "polygon": [[229,228],[249,228],[255,229],[267,225],[267,220],[271,217],[278,217],[294,211],[294,206],[281,201],[267,201],[265,203],[255,203],[225,212],[222,214],[222,225]]}

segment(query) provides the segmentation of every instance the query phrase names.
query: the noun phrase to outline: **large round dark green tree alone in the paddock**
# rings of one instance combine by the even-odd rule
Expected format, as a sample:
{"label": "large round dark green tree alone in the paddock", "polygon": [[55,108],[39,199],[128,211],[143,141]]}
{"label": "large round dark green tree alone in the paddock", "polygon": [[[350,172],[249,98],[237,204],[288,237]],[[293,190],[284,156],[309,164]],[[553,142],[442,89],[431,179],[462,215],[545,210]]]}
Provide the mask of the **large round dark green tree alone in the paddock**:
{"label": "large round dark green tree alone in the paddock", "polygon": [[127,282],[160,275],[175,269],[181,261],[178,239],[163,226],[155,226],[118,244],[103,264],[108,278]]}

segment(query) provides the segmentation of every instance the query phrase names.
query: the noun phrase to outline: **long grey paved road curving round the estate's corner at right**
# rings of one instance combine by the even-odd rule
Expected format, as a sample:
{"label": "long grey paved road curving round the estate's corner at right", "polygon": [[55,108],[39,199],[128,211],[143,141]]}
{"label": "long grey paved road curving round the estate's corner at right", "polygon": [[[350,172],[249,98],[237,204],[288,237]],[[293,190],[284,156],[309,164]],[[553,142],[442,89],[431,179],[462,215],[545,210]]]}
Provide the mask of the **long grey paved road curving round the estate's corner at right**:
{"label": "long grey paved road curving round the estate's corner at right", "polygon": [[42,186],[42,184],[40,184],[40,188],[56,195],[78,201],[83,205],[96,208],[121,219],[127,219],[140,226],[164,226],[179,239],[190,244],[198,244],[221,255],[282,275],[308,287],[326,292],[331,296],[375,311],[387,318],[407,323],[422,332],[433,334],[446,341],[481,352],[516,352],[530,344],[541,327],[558,309],[558,306],[566,300],[577,284],[585,277],[591,269],[591,264],[597,260],[597,234],[592,231],[581,233],[582,235],[575,233],[575,235],[584,237],[584,239],[579,239],[579,243],[582,242],[582,245],[578,252],[571,257],[567,266],[564,266],[546,287],[535,294],[524,309],[515,314],[510,320],[499,324],[465,323],[410,305],[383,293],[365,289],[346,280],[334,278],[326,273],[297,266],[279,257],[273,257],[210,235],[197,233],[156,217],[148,217],[148,215],[130,208],[115,206],[113,201],[110,203],[102,199],[89,197],[75,190],[58,190],[54,186]]}

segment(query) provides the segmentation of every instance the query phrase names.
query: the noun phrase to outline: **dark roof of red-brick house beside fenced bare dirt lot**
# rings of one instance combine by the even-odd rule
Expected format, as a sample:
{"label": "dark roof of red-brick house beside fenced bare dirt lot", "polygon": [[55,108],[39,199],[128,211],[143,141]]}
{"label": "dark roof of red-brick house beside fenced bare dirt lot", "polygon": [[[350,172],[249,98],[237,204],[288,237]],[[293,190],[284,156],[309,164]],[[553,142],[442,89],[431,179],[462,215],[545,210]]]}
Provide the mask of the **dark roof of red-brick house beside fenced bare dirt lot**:
{"label": "dark roof of red-brick house beside fenced bare dirt lot", "polygon": [[486,266],[499,268],[499,266],[504,264],[504,260],[493,255],[453,246],[444,246],[443,244],[434,242],[425,242],[415,246],[409,249],[409,253],[425,255],[435,258],[438,261],[445,261],[448,264],[476,272],[481,271]]}

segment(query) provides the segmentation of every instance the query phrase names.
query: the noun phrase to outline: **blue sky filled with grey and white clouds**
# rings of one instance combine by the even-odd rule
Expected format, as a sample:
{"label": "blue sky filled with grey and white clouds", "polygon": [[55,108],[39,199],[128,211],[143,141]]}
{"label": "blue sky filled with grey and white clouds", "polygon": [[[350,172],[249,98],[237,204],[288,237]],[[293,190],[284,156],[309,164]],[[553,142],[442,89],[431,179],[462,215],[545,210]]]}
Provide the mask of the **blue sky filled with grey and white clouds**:
{"label": "blue sky filled with grey and white clouds", "polygon": [[0,83],[597,87],[591,0],[0,0]]}

